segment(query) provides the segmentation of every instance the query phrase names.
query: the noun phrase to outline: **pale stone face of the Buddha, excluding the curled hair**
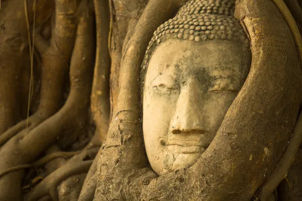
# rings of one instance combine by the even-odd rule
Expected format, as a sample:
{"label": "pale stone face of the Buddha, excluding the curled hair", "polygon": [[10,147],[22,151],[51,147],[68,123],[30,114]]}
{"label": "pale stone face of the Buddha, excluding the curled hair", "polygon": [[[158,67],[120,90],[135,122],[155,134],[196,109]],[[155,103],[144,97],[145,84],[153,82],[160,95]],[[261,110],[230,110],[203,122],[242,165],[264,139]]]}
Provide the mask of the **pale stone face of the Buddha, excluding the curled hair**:
{"label": "pale stone face of the Buddha, excluding the curled hair", "polygon": [[143,88],[143,136],[159,174],[193,165],[248,75],[250,51],[227,40],[169,39],[152,54]]}

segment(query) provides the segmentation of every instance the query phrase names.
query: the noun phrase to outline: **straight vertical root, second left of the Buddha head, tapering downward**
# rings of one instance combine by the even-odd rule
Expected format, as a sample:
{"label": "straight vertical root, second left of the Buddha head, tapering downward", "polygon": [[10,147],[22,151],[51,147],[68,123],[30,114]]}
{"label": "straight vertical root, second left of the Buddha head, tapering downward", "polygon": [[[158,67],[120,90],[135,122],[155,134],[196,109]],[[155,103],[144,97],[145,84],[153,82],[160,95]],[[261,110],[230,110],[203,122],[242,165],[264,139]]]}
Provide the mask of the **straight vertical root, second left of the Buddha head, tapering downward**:
{"label": "straight vertical root, second left of the Buddha head, tapering downward", "polygon": [[96,60],[94,68],[94,80],[91,92],[91,111],[97,125],[97,135],[94,137],[101,142],[105,140],[110,117],[110,56],[107,47],[109,17],[108,1],[94,1],[96,19]]}

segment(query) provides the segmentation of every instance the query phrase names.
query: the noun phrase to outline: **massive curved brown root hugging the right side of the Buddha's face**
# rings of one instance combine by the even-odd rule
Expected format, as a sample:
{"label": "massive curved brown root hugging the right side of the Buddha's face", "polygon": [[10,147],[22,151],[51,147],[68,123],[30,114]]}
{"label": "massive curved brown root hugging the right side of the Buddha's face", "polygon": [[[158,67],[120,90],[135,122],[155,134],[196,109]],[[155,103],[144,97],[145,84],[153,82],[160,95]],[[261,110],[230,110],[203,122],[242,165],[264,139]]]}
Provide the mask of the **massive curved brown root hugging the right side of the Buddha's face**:
{"label": "massive curved brown root hugging the right side of the Buddha's face", "polygon": [[[289,144],[295,141],[291,133],[302,98],[301,39],[284,3],[279,10],[274,2],[283,3],[237,1],[235,17],[250,38],[251,69],[217,135],[202,155],[202,160],[214,161],[211,165],[221,169],[219,173],[225,186],[219,186],[215,193],[226,192],[230,189],[226,185],[236,183],[232,191],[240,192],[242,200],[250,199],[257,188],[271,179],[275,164],[282,161],[284,150],[290,148],[288,140]],[[301,132],[295,134],[301,135]],[[298,145],[296,142],[290,146],[298,148]],[[214,159],[213,155],[219,157]],[[212,180],[216,177],[214,174]],[[218,178],[221,177],[217,174]],[[275,189],[278,181],[275,180],[275,186],[271,184],[262,189],[261,200]]]}

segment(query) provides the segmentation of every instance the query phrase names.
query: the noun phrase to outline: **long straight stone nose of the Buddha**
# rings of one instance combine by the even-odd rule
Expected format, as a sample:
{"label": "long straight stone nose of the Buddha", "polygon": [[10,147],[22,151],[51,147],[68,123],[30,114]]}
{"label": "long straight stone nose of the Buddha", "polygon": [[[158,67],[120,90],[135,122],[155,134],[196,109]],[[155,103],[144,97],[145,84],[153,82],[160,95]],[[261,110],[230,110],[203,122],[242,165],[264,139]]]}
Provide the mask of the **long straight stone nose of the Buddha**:
{"label": "long straight stone nose of the Buddha", "polygon": [[182,87],[170,122],[173,134],[204,133],[202,98],[194,83]]}

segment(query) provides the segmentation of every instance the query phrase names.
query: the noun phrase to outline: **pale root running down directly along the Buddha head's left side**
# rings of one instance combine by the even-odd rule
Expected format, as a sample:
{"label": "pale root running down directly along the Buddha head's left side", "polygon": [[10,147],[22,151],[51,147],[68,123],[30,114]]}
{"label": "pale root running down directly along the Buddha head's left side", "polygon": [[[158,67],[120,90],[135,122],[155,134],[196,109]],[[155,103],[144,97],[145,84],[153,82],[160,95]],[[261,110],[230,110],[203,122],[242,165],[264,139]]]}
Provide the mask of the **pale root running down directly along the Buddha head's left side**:
{"label": "pale root running down directly along the Buddha head's left side", "polygon": [[[165,12],[154,12],[163,10]],[[111,174],[118,168],[127,168],[132,166],[143,167],[147,165],[147,158],[143,148],[142,134],[139,123],[140,118],[140,96],[139,96],[139,73],[140,65],[143,60],[144,52],[149,40],[162,23],[168,20],[178,9],[175,1],[157,1],[150,0],[137,22],[133,35],[130,40],[124,44],[121,60],[121,70],[119,72],[119,94],[117,106],[113,111],[113,118],[110,124],[108,137],[105,142],[105,149],[99,158],[99,178],[95,192],[96,200],[111,200],[113,198],[123,199],[120,195],[122,186],[121,175],[114,177],[114,182],[107,185],[107,180],[103,180],[106,175]],[[141,29],[144,27],[144,29]],[[129,95],[131,94],[131,95]],[[121,130],[119,130],[121,129]],[[125,136],[122,136],[125,135]],[[127,137],[126,137],[127,136]],[[122,153],[118,155],[117,153]],[[125,154],[124,154],[125,153]],[[127,164],[116,165],[121,161]],[[110,177],[110,176],[109,176]],[[108,180],[109,180],[108,177]],[[111,178],[112,178],[111,177]],[[111,179],[112,180],[112,179]],[[110,189],[113,191],[109,192]]]}

